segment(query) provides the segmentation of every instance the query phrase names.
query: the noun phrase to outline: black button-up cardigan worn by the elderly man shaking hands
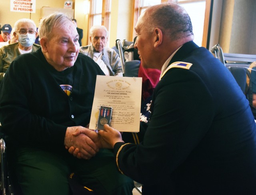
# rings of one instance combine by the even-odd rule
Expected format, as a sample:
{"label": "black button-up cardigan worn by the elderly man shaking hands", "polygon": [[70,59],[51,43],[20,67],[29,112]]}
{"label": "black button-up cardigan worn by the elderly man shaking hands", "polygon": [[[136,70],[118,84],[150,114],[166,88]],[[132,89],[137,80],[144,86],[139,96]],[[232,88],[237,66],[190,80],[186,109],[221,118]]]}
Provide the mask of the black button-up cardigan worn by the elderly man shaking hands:
{"label": "black button-up cardigan worn by the elderly man shaking hands", "polygon": [[[70,96],[56,80],[60,74],[73,74]],[[63,149],[67,127],[85,126],[90,121],[96,75],[104,73],[83,54],[62,72],[48,64],[41,50],[19,56],[0,86],[4,133],[16,145]]]}

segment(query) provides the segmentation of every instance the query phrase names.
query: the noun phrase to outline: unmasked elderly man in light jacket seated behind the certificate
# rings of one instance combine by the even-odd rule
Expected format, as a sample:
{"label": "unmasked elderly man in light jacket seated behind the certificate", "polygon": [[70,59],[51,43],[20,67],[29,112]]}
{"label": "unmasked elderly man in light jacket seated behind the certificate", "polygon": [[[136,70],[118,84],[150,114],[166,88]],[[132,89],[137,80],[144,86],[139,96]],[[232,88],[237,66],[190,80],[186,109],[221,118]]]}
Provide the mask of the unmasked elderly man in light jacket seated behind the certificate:
{"label": "unmasked elderly man in light jacket seated behind the certificate", "polygon": [[91,45],[80,47],[80,52],[92,58],[108,76],[123,76],[121,60],[115,50],[107,48],[108,30],[105,26],[92,26]]}

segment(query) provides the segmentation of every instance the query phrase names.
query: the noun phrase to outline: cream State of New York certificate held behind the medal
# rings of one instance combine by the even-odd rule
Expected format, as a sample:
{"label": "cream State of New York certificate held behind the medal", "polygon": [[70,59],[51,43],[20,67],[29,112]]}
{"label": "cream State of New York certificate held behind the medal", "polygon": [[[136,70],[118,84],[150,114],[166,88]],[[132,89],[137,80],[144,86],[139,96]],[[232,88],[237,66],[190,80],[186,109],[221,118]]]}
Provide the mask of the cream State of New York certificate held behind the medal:
{"label": "cream State of New York certificate held behind the medal", "polygon": [[142,78],[97,75],[90,129],[97,129],[100,107],[112,107],[110,126],[118,131],[140,131]]}

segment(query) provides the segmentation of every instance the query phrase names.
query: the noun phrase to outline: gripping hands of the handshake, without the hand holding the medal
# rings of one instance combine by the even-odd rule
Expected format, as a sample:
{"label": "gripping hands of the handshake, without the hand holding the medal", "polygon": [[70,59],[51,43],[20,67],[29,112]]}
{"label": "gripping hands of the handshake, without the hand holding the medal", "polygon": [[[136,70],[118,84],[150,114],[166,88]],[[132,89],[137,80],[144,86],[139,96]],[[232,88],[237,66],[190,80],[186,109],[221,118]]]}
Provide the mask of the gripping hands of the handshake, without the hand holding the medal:
{"label": "gripping hands of the handshake, without the hand holding the medal", "polygon": [[[99,151],[99,147],[94,140],[97,140],[98,133],[82,126],[68,127],[64,139],[66,149],[74,148],[74,151],[69,150],[69,153],[75,157],[90,159]],[[72,152],[70,152],[72,151]]]}

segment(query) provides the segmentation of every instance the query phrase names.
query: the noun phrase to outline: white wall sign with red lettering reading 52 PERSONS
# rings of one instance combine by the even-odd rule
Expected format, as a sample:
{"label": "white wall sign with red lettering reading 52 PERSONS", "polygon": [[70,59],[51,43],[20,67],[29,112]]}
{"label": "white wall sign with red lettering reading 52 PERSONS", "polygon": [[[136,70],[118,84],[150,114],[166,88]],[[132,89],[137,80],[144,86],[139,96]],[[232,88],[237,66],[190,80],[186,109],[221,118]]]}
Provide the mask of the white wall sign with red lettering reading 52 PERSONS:
{"label": "white wall sign with red lettering reading 52 PERSONS", "polygon": [[36,0],[10,0],[11,12],[36,13]]}

